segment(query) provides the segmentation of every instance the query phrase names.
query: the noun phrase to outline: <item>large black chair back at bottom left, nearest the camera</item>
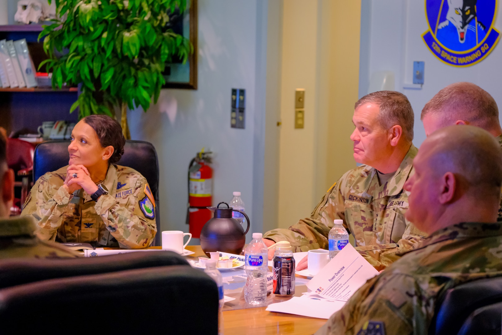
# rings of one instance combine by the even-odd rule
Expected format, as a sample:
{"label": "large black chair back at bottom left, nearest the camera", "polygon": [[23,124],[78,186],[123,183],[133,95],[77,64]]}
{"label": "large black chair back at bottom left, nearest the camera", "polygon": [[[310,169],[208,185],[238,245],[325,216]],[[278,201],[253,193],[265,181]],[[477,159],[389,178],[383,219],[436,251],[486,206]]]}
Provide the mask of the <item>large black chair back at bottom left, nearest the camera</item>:
{"label": "large black chair back at bottom left, nearest the camera", "polygon": [[217,334],[218,289],[186,265],[44,280],[0,290],[3,333]]}

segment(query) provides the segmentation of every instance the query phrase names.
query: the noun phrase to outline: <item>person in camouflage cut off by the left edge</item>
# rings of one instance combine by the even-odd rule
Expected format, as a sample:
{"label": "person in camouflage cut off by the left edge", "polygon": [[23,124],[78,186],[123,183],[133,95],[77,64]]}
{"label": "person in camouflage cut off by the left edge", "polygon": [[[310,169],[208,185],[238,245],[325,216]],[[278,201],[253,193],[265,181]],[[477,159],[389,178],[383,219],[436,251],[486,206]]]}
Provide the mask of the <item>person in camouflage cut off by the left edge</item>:
{"label": "person in camouflage cut off by the left edge", "polygon": [[0,259],[35,257],[79,257],[66,247],[40,241],[36,224],[30,217],[9,218],[14,201],[14,171],[7,166],[7,143],[0,134]]}

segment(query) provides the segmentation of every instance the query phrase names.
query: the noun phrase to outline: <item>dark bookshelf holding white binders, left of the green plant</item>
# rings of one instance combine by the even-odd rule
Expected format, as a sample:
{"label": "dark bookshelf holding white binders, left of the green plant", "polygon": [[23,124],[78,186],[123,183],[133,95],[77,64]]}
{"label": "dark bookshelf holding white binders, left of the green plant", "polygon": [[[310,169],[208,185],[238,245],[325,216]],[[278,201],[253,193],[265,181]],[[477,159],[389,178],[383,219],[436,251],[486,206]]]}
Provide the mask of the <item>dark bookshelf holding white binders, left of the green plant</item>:
{"label": "dark bookshelf holding white binders, left of the green plant", "polygon": [[[0,40],[25,38],[35,67],[47,58],[38,35],[41,24],[0,25]],[[36,133],[44,121],[78,121],[78,111],[69,114],[70,107],[77,100],[77,87],[54,90],[51,87],[0,88],[0,126],[7,133],[29,130]]]}

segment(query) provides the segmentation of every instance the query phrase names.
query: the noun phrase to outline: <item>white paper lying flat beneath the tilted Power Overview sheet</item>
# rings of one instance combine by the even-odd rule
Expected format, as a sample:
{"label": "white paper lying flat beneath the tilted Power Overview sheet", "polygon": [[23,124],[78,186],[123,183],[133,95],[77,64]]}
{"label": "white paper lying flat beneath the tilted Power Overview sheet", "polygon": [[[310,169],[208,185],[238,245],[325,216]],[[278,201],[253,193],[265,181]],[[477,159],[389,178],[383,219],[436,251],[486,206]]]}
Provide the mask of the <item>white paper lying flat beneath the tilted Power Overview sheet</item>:
{"label": "white paper lying flat beneath the tilted Power Overview sheet", "polygon": [[344,304],[345,301],[329,301],[303,295],[301,297],[292,297],[287,301],[270,304],[267,310],[329,319],[331,314],[342,308]]}

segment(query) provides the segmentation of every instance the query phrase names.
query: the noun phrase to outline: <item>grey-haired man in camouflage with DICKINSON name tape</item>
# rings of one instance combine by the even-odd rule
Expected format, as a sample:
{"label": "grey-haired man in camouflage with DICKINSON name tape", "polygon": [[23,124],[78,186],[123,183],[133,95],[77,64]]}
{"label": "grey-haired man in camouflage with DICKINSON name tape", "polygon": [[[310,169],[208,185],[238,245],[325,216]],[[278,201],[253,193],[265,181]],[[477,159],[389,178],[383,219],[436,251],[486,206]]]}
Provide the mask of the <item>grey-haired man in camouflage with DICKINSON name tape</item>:
{"label": "grey-haired man in camouflage with DICKINSON name tape", "polygon": [[[413,248],[426,234],[405,218],[409,193],[403,189],[413,174],[414,115],[408,98],[395,91],[367,94],[355,103],[350,139],[354,159],[363,165],[346,172],[323,196],[310,217],[289,229],[265,233],[267,246],[286,240],[294,252],[328,247],[334,219],[355,239],[356,250],[383,270]],[[273,250],[269,251],[269,258]],[[306,267],[300,261],[297,270]]]}

